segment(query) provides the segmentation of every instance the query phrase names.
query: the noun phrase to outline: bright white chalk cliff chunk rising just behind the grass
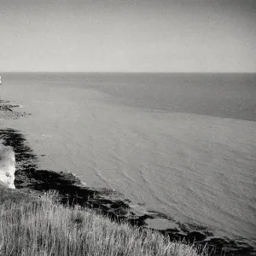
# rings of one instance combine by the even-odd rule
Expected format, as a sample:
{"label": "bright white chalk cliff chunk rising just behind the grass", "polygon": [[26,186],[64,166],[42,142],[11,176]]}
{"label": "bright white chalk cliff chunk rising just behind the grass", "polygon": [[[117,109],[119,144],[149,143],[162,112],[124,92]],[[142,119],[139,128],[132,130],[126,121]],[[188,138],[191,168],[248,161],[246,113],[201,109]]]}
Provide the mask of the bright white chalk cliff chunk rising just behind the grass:
{"label": "bright white chalk cliff chunk rising just behind the grass", "polygon": [[0,145],[0,183],[15,189],[15,152],[11,147]]}

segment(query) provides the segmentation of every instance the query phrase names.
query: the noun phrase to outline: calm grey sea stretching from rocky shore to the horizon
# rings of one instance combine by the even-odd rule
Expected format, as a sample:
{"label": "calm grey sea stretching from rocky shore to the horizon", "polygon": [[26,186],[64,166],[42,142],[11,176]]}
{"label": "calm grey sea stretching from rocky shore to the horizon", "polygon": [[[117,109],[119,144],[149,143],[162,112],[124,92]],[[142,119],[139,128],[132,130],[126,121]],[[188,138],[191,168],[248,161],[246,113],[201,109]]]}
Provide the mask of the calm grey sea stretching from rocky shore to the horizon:
{"label": "calm grey sea stretching from rocky shore to the horizon", "polygon": [[255,74],[2,75],[42,168],[256,245]]}

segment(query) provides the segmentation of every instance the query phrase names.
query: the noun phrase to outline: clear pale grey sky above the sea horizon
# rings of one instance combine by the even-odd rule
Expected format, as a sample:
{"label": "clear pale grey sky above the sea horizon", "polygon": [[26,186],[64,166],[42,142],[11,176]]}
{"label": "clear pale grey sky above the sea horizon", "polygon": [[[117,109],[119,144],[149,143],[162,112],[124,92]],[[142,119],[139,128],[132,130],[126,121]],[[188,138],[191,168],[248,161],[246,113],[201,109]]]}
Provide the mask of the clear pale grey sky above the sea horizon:
{"label": "clear pale grey sky above the sea horizon", "polygon": [[0,72],[256,73],[256,0],[0,0]]}

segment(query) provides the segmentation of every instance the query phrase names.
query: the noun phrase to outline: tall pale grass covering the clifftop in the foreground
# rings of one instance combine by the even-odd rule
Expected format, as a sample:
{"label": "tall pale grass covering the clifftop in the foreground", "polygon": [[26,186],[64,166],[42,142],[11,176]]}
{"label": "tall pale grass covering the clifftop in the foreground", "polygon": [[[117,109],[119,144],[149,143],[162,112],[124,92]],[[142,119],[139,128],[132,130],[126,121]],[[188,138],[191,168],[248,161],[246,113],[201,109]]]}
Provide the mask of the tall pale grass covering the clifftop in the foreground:
{"label": "tall pale grass covering the clifftop in the foreground", "polygon": [[[199,255],[194,245],[114,223],[88,209],[62,206],[54,197],[0,188],[0,255]],[[207,250],[201,255],[208,255]]]}

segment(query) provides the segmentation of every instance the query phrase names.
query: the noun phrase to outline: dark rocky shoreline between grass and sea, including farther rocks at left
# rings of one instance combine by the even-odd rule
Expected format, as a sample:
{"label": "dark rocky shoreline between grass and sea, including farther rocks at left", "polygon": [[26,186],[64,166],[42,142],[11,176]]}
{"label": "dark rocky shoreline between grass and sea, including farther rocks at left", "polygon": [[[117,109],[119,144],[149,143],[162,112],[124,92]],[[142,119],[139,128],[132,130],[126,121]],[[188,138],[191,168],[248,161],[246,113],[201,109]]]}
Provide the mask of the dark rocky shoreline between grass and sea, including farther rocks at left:
{"label": "dark rocky shoreline between grass and sea, including farther rocks at left", "polygon": [[[1,119],[19,119],[28,114],[13,110],[15,107],[19,106],[0,100],[0,123]],[[154,228],[153,230],[169,236],[171,241],[195,241],[201,247],[207,244],[210,250],[214,248],[216,255],[224,253],[225,255],[256,255],[255,248],[241,241],[214,237],[213,233],[206,227],[181,224],[160,212],[137,212],[130,206],[131,202],[126,200],[123,195],[112,189],[86,187],[71,172],[58,173],[38,170],[37,156],[33,154],[32,148],[26,143],[26,137],[20,131],[0,126],[0,143],[1,140],[4,145],[11,146],[15,151],[17,170],[15,172],[15,186],[17,190],[36,195],[55,190],[64,204],[89,207],[116,222],[127,222],[138,227],[150,228],[150,221],[164,220],[172,223],[173,228],[164,230]]]}

